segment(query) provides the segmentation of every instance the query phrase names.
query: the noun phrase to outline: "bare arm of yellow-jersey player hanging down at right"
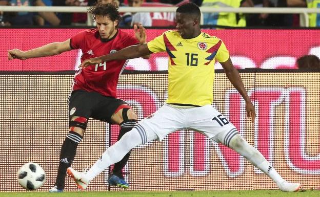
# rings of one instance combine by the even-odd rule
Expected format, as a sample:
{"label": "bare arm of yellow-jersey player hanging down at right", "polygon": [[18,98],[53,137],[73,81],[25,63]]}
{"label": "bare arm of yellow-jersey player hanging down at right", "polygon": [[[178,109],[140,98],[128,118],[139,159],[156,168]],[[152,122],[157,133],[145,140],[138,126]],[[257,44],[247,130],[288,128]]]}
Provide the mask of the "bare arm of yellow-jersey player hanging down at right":
{"label": "bare arm of yellow-jersey player hanging down at right", "polygon": [[241,96],[245,99],[246,101],[246,111],[247,111],[247,116],[251,117],[252,122],[254,122],[255,119],[255,110],[254,106],[247,94],[247,91],[245,89],[245,86],[242,82],[242,79],[238,73],[238,71],[234,68],[230,57],[228,58],[227,61],[225,62],[220,62],[223,69],[225,70],[225,73],[232,83],[232,85],[235,87],[235,89],[241,94]]}

